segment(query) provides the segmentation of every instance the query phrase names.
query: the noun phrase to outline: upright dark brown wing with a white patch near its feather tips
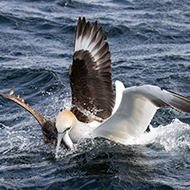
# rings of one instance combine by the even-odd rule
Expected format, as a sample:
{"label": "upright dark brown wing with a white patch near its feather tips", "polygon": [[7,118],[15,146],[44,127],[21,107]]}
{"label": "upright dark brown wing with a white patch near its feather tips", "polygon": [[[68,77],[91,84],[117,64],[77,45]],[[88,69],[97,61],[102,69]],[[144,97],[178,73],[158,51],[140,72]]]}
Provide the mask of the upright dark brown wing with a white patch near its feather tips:
{"label": "upright dark brown wing with a white patch near its feather tips", "polygon": [[[72,108],[79,121],[108,118],[114,106],[109,45],[97,21],[78,19],[73,64],[69,67]],[[93,118],[95,116],[95,118]]]}

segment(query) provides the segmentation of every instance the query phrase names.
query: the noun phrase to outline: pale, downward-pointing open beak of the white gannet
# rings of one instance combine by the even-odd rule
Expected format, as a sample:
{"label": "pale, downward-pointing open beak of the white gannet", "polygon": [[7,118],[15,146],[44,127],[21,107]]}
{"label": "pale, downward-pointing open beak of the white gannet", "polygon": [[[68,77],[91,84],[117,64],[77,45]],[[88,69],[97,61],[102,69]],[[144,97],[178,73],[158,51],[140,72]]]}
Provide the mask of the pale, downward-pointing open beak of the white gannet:
{"label": "pale, downward-pointing open beak of the white gannet", "polygon": [[56,155],[59,152],[59,147],[60,147],[62,139],[63,139],[63,142],[68,149],[74,149],[73,142],[72,142],[71,138],[69,137],[69,130],[66,130],[63,133],[58,133]]}

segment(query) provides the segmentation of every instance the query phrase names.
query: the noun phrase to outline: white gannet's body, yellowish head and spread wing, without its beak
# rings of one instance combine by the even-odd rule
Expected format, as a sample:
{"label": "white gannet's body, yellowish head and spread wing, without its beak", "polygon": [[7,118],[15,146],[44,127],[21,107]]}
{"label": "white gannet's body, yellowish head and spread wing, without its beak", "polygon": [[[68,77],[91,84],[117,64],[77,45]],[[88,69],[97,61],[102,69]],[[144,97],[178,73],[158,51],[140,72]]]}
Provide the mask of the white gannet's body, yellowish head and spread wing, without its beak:
{"label": "white gannet's body, yellowish head and spread wing, without its beak", "polygon": [[[71,139],[68,142],[104,137],[121,144],[128,144],[131,139],[143,134],[160,107],[171,106],[190,113],[189,99],[157,86],[143,85],[124,89],[123,84],[116,81],[116,90],[119,91],[116,92],[116,103],[119,105],[115,105],[116,111],[103,123],[90,128],[90,124],[78,121],[71,112],[67,114],[68,111],[63,111],[56,119],[58,132],[69,128],[68,135]],[[65,141],[66,146],[72,148],[68,142]]]}

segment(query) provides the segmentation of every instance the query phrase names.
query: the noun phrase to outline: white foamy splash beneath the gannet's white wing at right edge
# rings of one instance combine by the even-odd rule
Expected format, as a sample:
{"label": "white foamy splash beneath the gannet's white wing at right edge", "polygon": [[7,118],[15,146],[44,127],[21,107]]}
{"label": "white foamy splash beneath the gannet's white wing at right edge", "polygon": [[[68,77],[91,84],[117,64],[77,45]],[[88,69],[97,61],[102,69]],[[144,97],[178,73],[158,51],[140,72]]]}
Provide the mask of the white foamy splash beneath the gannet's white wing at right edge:
{"label": "white foamy splash beneath the gannet's white wing at right edge", "polygon": [[167,152],[190,152],[190,125],[174,119],[166,126],[150,127],[131,144],[146,145],[151,149],[161,149]]}

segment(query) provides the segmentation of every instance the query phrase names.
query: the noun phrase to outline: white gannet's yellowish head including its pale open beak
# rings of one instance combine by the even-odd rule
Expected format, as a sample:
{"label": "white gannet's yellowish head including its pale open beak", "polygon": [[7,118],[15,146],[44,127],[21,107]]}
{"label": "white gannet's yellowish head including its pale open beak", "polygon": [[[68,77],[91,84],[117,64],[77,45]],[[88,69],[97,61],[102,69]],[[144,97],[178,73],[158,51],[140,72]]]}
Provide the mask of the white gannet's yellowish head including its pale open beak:
{"label": "white gannet's yellowish head including its pale open beak", "polygon": [[71,111],[64,110],[56,118],[56,128],[58,132],[56,153],[59,151],[61,140],[67,148],[73,149],[74,145],[69,136],[71,128],[75,125],[76,117]]}

